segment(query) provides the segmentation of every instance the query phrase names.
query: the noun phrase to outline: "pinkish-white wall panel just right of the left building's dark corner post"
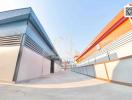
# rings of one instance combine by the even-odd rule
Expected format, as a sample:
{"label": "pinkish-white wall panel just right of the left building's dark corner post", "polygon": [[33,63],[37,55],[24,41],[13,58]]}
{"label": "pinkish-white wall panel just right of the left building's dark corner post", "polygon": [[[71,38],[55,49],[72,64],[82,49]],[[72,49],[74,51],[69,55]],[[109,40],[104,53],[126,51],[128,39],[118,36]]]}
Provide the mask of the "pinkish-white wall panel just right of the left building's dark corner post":
{"label": "pinkish-white wall panel just right of the left building's dark corner post", "polygon": [[38,78],[42,75],[42,56],[23,47],[17,81]]}

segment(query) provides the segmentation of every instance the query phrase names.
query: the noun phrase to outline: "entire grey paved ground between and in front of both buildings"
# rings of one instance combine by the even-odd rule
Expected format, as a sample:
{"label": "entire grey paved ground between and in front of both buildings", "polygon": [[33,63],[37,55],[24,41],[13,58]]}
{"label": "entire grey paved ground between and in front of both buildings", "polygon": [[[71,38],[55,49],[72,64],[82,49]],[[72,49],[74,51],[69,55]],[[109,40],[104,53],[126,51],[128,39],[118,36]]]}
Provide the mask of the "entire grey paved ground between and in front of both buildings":
{"label": "entire grey paved ground between and in front of both buildings", "polygon": [[132,87],[59,72],[20,84],[0,84],[0,100],[132,100]]}

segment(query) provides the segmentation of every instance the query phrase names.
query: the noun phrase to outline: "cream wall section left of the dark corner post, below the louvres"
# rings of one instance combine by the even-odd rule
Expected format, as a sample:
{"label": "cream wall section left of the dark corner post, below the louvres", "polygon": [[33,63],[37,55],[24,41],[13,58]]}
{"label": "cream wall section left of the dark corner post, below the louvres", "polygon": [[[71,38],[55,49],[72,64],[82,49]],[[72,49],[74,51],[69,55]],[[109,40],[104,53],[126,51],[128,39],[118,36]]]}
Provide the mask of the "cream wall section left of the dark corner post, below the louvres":
{"label": "cream wall section left of the dark corner post, below the louvres", "polygon": [[0,81],[12,82],[20,46],[0,47]]}

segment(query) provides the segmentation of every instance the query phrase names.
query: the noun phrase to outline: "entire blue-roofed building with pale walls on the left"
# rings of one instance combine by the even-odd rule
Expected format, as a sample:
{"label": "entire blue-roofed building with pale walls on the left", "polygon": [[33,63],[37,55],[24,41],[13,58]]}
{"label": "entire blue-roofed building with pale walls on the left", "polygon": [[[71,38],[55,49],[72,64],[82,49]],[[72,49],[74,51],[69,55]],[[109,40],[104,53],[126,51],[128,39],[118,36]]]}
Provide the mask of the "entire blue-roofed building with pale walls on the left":
{"label": "entire blue-roofed building with pale walls on the left", "polygon": [[30,80],[60,67],[61,58],[31,8],[0,13],[0,81]]}

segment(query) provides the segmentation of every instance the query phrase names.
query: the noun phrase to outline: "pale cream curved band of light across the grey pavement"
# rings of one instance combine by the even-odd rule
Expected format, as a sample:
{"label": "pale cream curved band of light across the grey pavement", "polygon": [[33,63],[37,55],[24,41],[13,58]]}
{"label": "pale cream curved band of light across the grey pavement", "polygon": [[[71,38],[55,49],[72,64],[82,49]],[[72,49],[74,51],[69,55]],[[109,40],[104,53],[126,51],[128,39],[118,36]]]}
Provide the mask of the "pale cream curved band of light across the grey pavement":
{"label": "pale cream curved band of light across the grey pavement", "polygon": [[14,84],[14,83],[0,83],[1,85],[16,86],[16,87],[29,87],[29,88],[79,88],[85,86],[94,86],[98,84],[108,83],[106,81],[90,79],[79,82],[59,83],[59,84]]}

